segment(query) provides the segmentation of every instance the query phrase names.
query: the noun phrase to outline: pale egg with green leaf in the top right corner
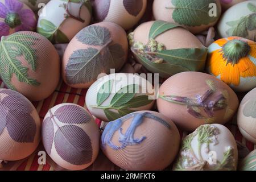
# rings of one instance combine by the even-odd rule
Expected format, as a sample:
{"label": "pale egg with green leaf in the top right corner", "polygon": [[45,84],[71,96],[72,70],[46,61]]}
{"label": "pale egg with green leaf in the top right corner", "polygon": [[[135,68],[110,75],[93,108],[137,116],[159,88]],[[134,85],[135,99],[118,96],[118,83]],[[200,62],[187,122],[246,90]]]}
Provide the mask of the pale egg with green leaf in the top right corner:
{"label": "pale egg with green leaf in the top right corner", "polygon": [[226,10],[218,23],[221,38],[240,36],[256,41],[256,1],[238,3]]}

